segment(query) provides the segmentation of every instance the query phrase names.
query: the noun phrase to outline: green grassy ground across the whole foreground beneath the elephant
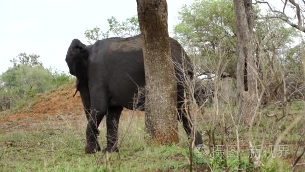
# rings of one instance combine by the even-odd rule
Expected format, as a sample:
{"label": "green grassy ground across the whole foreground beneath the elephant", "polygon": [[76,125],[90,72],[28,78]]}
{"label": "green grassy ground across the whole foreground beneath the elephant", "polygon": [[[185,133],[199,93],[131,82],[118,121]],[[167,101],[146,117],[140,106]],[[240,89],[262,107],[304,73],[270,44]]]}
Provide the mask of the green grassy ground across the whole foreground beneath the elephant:
{"label": "green grassy ground across the whole foreground beneath the elephant", "polygon": [[[266,108],[265,111],[280,112],[277,107]],[[228,109],[219,111],[226,117],[226,126],[221,129],[219,123],[213,125],[215,115],[213,107],[206,108],[204,114],[197,118],[198,129],[203,132],[204,144],[211,141],[207,132],[215,129],[215,144],[236,145],[236,129],[230,122]],[[254,144],[272,144],[276,132],[283,132],[298,116],[303,115],[302,103],[289,105],[289,115],[280,123],[275,119],[261,116],[253,126]],[[215,118],[216,121],[221,121]],[[303,119],[302,119],[303,121]],[[127,112],[120,120],[120,153],[85,154],[85,126],[83,115],[66,115],[59,113],[44,120],[28,120],[14,124],[3,123],[0,130],[0,171],[188,171],[190,153],[188,139],[179,125],[180,142],[175,145],[147,144],[144,140],[144,119],[142,115]],[[105,146],[105,123],[100,125],[99,142]],[[303,129],[303,123],[297,122],[286,134],[282,145],[289,146],[287,157],[261,158],[261,171],[289,171],[296,142]],[[224,131],[224,132],[221,132]],[[194,154],[193,169],[197,171],[234,171],[239,169],[253,170],[248,158],[248,126],[239,126],[239,141],[241,146],[240,161],[237,156],[221,158],[221,156],[202,156],[203,151]],[[224,139],[222,134],[224,133]],[[210,140],[210,141],[209,141]],[[211,144],[211,143],[210,143]],[[304,142],[302,142],[304,145]],[[218,150],[219,152],[219,150]],[[241,162],[241,163],[239,163]],[[304,157],[299,163],[304,163]],[[297,170],[303,171],[304,165],[298,165]]]}

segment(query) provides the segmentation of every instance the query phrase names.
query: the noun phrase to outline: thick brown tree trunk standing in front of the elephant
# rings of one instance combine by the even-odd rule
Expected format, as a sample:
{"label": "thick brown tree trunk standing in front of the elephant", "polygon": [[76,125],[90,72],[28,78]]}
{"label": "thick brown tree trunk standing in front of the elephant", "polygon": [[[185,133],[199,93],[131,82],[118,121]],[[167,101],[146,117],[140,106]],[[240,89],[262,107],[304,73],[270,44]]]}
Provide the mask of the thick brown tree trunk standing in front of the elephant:
{"label": "thick brown tree trunk standing in front of the elephant", "polygon": [[145,131],[160,144],[178,142],[177,82],[166,0],[137,0],[145,68]]}

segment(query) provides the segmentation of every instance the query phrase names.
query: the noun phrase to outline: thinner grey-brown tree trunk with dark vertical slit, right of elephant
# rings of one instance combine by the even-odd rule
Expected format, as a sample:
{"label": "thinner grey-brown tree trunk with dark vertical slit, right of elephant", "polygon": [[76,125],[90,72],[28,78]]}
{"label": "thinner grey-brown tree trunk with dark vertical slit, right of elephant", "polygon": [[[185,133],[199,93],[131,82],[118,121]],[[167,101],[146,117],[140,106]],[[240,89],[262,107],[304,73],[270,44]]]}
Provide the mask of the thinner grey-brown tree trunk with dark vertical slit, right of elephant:
{"label": "thinner grey-brown tree trunk with dark vertical slit, right of elephant", "polygon": [[252,0],[234,0],[237,25],[237,100],[241,122],[249,123],[257,106],[253,53]]}

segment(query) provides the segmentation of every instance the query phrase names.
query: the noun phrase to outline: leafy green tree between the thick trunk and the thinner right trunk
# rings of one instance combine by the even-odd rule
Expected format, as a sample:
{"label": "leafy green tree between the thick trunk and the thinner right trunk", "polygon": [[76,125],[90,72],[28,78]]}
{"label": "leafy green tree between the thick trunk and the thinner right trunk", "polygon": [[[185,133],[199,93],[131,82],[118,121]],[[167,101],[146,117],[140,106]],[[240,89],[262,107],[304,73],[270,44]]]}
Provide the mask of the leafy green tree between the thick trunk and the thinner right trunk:
{"label": "leafy green tree between the thick trunk and the thinner right trunk", "polygon": [[222,65],[226,72],[236,72],[236,24],[230,0],[195,1],[179,12],[180,22],[174,27],[175,38],[183,44],[195,61],[202,61],[200,70],[215,72],[219,53],[225,54]]}

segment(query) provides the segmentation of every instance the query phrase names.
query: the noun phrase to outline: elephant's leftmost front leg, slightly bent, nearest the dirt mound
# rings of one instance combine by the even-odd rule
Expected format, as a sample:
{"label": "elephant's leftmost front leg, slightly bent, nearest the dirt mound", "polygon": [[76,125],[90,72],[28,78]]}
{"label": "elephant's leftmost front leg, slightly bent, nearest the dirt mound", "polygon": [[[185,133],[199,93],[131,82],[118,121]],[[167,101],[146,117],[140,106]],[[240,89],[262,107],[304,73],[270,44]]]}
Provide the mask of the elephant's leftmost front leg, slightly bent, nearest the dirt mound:
{"label": "elephant's leftmost front leg, slightly bent, nearest the dirt mound", "polygon": [[[95,93],[95,94],[93,94]],[[91,97],[91,111],[88,118],[86,138],[87,145],[85,148],[86,153],[95,153],[100,151],[101,148],[98,144],[98,126],[101,123],[103,117],[105,116],[108,108],[108,96],[106,92],[98,89],[98,91],[92,91]]]}

